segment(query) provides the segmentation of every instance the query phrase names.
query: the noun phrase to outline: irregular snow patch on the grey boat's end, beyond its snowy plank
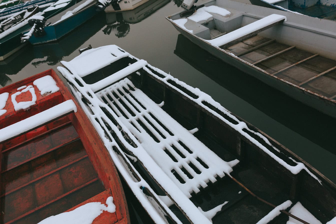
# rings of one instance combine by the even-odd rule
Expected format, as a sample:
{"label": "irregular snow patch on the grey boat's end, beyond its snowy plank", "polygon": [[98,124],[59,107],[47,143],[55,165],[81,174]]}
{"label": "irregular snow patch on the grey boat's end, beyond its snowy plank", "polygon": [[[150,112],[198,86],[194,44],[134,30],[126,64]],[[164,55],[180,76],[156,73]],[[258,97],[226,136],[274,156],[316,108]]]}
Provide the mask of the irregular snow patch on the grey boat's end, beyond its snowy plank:
{"label": "irregular snow patch on the grey boat's end, beyond its snowy plank", "polygon": [[[215,14],[219,14],[221,16],[226,16],[226,15],[230,15],[231,12],[229,12],[228,10],[218,7],[216,5],[211,5],[211,6],[204,6],[202,8],[197,9],[197,11],[188,17],[188,19],[191,19],[193,21],[195,21],[196,23],[199,23],[200,21],[208,21],[208,20],[212,20],[212,14],[210,13],[215,13]],[[175,20],[174,20],[175,21]]]}

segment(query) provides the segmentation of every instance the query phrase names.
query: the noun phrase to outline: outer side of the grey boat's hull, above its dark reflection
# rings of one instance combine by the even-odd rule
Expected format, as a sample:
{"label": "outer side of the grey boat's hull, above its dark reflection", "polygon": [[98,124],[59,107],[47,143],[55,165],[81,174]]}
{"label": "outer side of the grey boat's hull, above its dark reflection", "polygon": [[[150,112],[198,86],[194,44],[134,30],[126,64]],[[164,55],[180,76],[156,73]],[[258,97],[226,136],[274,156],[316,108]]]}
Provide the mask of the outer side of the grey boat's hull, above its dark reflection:
{"label": "outer side of the grey boat's hull, above its dark reflection", "polygon": [[208,51],[212,55],[218,57],[222,61],[235,66],[237,69],[246,72],[247,74],[257,78],[263,83],[285,93],[286,95],[321,111],[333,118],[336,118],[336,101],[320,94],[311,92],[302,87],[296,86],[283,79],[263,71],[262,69],[242,60],[236,56],[233,56],[219,47],[214,47],[204,41],[203,39],[190,34],[189,32],[181,29],[171,19],[167,18],[173,26],[186,38],[197,44],[204,50]]}

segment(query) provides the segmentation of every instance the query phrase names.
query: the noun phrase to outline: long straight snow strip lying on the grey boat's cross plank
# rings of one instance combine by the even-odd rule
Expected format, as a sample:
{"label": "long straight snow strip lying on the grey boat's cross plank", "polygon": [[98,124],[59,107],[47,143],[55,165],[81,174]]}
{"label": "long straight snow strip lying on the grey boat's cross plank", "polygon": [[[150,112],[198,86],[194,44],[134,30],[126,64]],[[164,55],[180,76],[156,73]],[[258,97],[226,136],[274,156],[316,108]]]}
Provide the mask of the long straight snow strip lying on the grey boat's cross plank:
{"label": "long straight snow strip lying on the grey boat's cross plank", "polygon": [[287,17],[283,16],[283,15],[278,15],[278,14],[271,14],[269,16],[266,16],[262,19],[259,19],[251,24],[248,24],[244,27],[241,27],[237,30],[234,30],[230,33],[227,33],[223,36],[217,37],[215,39],[212,40],[207,40],[207,42],[209,42],[211,45],[213,46],[222,46],[224,44],[227,44],[231,41],[237,40],[238,38],[241,38],[247,34],[250,34],[252,32],[255,32],[257,30],[260,30],[264,27],[267,27],[271,24],[274,24],[278,21],[281,21],[285,19],[285,21],[287,21]]}

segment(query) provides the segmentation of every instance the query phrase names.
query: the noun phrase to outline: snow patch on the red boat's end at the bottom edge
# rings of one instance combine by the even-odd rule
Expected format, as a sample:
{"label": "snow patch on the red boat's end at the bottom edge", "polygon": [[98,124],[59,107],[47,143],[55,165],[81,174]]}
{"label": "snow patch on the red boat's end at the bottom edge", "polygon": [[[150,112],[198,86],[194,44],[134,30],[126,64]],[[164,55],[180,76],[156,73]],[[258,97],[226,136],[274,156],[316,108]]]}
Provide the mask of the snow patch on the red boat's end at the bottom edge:
{"label": "snow patch on the red boat's end at the bottom edge", "polygon": [[106,199],[106,204],[107,206],[100,202],[90,202],[73,211],[50,216],[38,224],[91,224],[103,211],[116,212],[112,196]]}

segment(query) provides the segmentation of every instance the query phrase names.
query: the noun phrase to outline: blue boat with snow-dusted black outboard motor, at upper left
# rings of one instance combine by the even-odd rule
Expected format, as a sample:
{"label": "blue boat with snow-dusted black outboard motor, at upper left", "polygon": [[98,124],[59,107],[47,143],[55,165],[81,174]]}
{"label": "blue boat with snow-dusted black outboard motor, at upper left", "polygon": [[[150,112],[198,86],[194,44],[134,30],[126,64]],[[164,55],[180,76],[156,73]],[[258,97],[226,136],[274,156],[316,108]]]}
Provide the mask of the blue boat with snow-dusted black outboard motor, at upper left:
{"label": "blue boat with snow-dusted black outboard motor, at upper left", "polygon": [[104,10],[110,2],[111,0],[87,0],[77,3],[68,11],[47,19],[42,26],[32,28],[23,35],[22,39],[23,41],[29,40],[34,45],[57,41]]}

